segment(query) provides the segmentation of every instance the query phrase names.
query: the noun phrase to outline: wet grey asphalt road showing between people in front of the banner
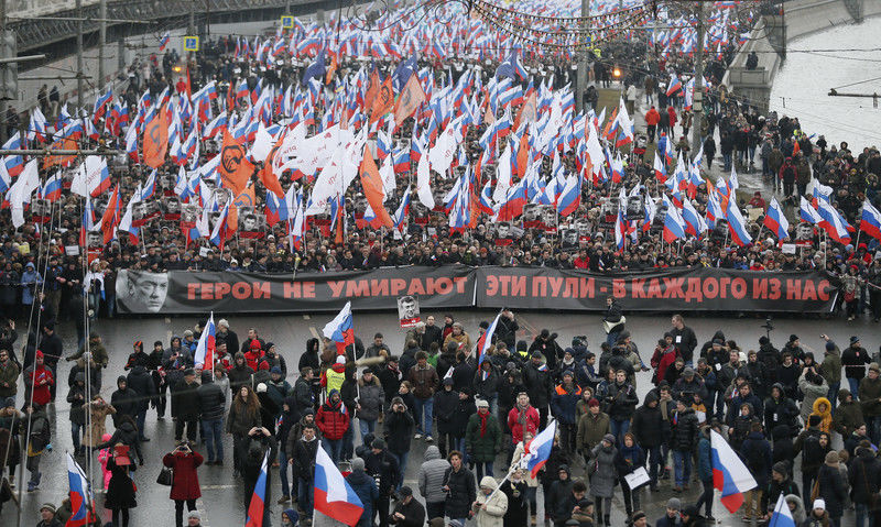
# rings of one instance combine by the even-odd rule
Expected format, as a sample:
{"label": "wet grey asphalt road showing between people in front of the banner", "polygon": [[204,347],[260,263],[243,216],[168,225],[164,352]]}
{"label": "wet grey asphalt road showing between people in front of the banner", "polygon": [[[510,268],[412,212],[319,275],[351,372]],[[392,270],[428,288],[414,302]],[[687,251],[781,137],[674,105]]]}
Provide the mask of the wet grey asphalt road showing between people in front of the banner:
{"label": "wet grey asphalt road showing between people in front of the banner", "polygon": [[[289,382],[293,384],[297,361],[305,349],[306,340],[316,332],[320,332],[322,327],[333,318],[334,314],[318,314],[313,317],[303,315],[286,316],[249,316],[235,317],[228,316],[232,329],[239,333],[240,339],[247,333],[249,327],[257,327],[260,336],[268,341],[273,341],[281,350],[287,361],[289,370],[292,372]],[[437,319],[442,319],[443,314],[434,314]],[[494,315],[489,311],[457,311],[457,320],[465,325],[466,331],[470,334],[477,333],[477,326],[481,320],[491,319]],[[427,312],[423,314],[427,316]],[[599,316],[595,314],[561,314],[561,312],[523,312],[516,314],[521,331],[518,339],[531,341],[542,328],[548,328],[559,334],[559,341],[565,347],[576,334],[586,334],[591,351],[599,351],[599,343],[605,340]],[[220,316],[216,315],[216,320]],[[143,340],[149,348],[155,340],[167,342],[172,334],[181,334],[187,328],[192,328],[196,322],[195,317],[178,318],[144,318],[144,319],[117,319],[99,320],[96,328],[102,336],[105,345],[110,354],[110,364],[105,371],[102,381],[102,393],[109,399],[110,394],[116,389],[116,377],[122,373],[122,366],[131,351],[131,343],[134,340]],[[758,348],[758,339],[763,336],[765,330],[761,328],[764,318],[735,316],[727,318],[719,317],[686,317],[686,323],[697,333],[698,344],[703,344],[711,334],[721,329],[728,339],[736,340],[746,351]],[[629,316],[628,330],[631,331],[633,340],[640,347],[643,360],[648,362],[655,341],[663,336],[670,328],[670,316],[657,314],[652,316]],[[801,337],[803,345],[814,350],[823,350],[823,341],[819,333],[827,333],[837,341],[841,348],[847,345],[851,334],[862,338],[863,345],[872,353],[877,352],[881,344],[881,329],[867,320],[846,322],[840,319],[826,320],[823,318],[809,317],[781,318],[774,320],[775,330],[772,332],[772,341],[781,348],[788,339],[791,333]],[[372,334],[377,331],[384,333],[385,342],[394,353],[400,353],[403,349],[404,332],[398,329],[396,314],[393,312],[371,312],[355,314],[355,330],[362,340],[369,342]],[[59,333],[64,339],[65,352],[70,353],[75,350],[76,332],[68,322],[61,327]],[[807,349],[807,348],[806,348]],[[820,353],[822,354],[822,353]],[[39,517],[41,504],[51,502],[58,505],[67,493],[67,473],[65,464],[65,449],[72,448],[70,427],[67,419],[68,405],[64,400],[67,394],[66,378],[72,363],[62,361],[59,363],[58,378],[62,385],[58,389],[57,403],[50,409],[50,417],[53,422],[54,450],[44,453],[41,466],[43,469],[43,482],[40,488],[33,493],[23,493],[23,509],[21,525],[35,525]],[[640,399],[648,393],[650,386],[651,372],[638,373],[638,392]],[[21,405],[23,389],[19,391],[19,404]],[[108,431],[112,431],[112,425],[108,419]],[[157,420],[156,414],[150,410],[146,418],[146,436],[152,441],[144,443],[146,464],[134,473],[133,477],[138,485],[138,507],[131,510],[132,526],[165,526],[174,525],[173,502],[168,499],[168,487],[160,486],[155,483],[160,472],[162,455],[173,448],[174,424],[167,417],[165,420]],[[358,439],[356,439],[356,443]],[[840,439],[836,439],[840,446]],[[202,483],[203,497],[197,502],[199,510],[203,513],[203,525],[205,526],[231,526],[244,523],[244,507],[242,504],[241,480],[233,477],[231,466],[231,438],[225,438],[226,460],[225,466],[203,466],[199,469],[199,481]],[[206,454],[204,447],[197,450]],[[416,486],[415,477],[425,451],[425,442],[414,440],[411,450],[410,463],[407,465],[405,483]],[[498,466],[501,462],[497,462]],[[671,460],[672,463],[672,460]],[[21,468],[20,468],[21,470]],[[575,475],[583,473],[583,469],[577,466]],[[24,481],[26,485],[28,475]],[[95,481],[100,481],[100,469],[95,465]],[[801,482],[801,476],[796,475],[796,482]],[[278,470],[271,474],[272,482],[272,525],[279,525],[282,507],[275,504],[275,499],[281,495],[281,484]],[[15,483],[19,483],[17,474]],[[662,482],[661,492],[642,492],[642,508],[646,510],[650,523],[663,515],[666,499],[674,494],[671,491],[668,481]],[[694,503],[699,496],[699,482],[692,484],[692,490],[679,495],[684,503]],[[624,524],[624,507],[620,495],[620,490],[616,491],[616,498],[612,501],[612,524]],[[98,495],[97,503],[99,510],[102,512],[105,520],[109,520],[109,512],[102,509],[104,498]],[[540,517],[543,513],[541,486],[539,491]],[[290,506],[290,505],[287,505]],[[701,510],[703,512],[703,510]],[[739,525],[740,514],[729,515],[718,501],[714,505],[714,515],[722,525]],[[852,525],[852,512],[847,512],[842,525]],[[0,525],[17,525],[17,509],[14,505],[8,503],[0,514]]]}

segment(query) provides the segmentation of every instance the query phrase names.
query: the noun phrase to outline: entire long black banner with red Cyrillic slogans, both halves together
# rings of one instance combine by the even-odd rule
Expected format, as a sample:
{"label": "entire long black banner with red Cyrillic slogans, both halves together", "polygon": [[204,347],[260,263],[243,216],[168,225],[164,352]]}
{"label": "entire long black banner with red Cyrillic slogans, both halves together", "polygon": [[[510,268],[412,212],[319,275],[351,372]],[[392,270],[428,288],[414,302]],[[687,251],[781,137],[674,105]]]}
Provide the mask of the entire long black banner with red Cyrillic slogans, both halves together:
{"label": "entire long black banner with red Cyrillic slogans, both halves together", "polygon": [[836,278],[823,272],[721,268],[594,274],[546,267],[384,267],[293,275],[173,271],[119,272],[117,306],[130,314],[335,311],[395,309],[418,298],[425,309],[487,307],[602,311],[614,297],[624,311],[828,312]]}

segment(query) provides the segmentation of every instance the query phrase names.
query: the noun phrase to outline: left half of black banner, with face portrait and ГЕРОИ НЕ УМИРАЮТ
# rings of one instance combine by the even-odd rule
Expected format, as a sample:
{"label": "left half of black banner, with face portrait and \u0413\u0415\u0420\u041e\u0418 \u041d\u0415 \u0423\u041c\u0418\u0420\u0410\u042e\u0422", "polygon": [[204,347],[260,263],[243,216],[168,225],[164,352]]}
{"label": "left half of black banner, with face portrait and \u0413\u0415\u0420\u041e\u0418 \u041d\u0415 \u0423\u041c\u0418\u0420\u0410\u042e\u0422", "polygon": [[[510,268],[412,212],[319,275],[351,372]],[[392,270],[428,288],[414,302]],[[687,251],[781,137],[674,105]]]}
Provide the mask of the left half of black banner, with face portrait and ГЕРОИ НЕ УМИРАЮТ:
{"label": "left half of black banner, with face portrait and \u0413\u0415\u0420\u041e\u0418 \u041d\u0415 \u0423\u041c\u0418\u0420\u0410\u042e\u0422", "polygon": [[422,309],[471,307],[475,270],[466,266],[385,267],[339,273],[263,274],[171,271],[119,272],[119,312],[185,314],[395,309],[418,298]]}

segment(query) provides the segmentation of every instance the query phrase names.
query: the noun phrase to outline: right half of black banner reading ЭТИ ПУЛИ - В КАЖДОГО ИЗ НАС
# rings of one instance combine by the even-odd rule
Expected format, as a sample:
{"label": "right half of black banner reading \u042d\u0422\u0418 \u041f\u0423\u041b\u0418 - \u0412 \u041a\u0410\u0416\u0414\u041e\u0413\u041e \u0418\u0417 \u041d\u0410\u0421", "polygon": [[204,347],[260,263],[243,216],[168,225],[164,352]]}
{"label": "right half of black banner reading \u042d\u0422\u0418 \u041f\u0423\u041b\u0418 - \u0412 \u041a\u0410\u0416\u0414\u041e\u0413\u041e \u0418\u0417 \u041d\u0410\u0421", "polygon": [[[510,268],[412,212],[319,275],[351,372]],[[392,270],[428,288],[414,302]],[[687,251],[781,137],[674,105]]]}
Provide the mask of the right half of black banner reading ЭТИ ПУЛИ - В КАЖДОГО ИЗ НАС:
{"label": "right half of black banner reading \u042d\u0422\u0418 \u041f\u0423\u041b\u0418 - \u0412 \u041a\u0410\u0416\u0414\u041e\u0413\u041e \u0418\u0417 \u041d\u0410\u0421", "polygon": [[828,312],[838,282],[820,272],[754,272],[714,267],[595,274],[544,267],[478,270],[479,307],[624,311]]}

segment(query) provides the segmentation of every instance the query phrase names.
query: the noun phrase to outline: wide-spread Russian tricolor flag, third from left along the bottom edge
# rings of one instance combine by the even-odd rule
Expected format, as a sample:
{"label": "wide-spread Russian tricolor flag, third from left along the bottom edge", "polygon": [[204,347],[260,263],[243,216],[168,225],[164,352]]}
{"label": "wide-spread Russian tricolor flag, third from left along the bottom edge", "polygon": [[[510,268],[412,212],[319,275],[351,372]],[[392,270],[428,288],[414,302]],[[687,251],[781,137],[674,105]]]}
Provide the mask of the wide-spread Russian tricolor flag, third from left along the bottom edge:
{"label": "wide-spread Russian tricolor flag, third from left along the bottom edge", "polygon": [[[264,462],[265,463],[265,462]],[[265,464],[264,464],[265,469]],[[262,477],[262,476],[261,476]],[[334,464],[334,460],[318,444],[315,454],[315,512],[355,527],[365,512],[365,505],[342,474]],[[249,527],[248,524],[246,527]],[[254,524],[257,527],[257,524]]]}

